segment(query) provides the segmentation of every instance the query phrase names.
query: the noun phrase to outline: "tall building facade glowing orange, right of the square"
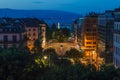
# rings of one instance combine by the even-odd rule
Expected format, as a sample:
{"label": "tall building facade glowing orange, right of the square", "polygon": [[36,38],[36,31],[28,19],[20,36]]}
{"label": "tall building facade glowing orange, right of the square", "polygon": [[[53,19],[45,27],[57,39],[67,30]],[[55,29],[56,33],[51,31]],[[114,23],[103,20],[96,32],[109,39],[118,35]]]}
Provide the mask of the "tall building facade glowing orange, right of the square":
{"label": "tall building facade glowing orange, right of the square", "polygon": [[82,25],[83,49],[85,56],[95,59],[98,52],[98,17],[85,17]]}

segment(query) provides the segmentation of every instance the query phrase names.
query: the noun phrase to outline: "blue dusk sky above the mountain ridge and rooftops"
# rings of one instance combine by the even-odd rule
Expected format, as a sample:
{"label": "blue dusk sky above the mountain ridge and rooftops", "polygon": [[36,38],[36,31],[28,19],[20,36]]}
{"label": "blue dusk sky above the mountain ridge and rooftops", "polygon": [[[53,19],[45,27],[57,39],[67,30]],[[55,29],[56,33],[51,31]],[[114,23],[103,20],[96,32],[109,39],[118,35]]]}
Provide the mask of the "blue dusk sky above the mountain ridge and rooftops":
{"label": "blue dusk sky above the mountain ridge and rooftops", "polygon": [[0,0],[0,8],[103,12],[120,7],[120,0]]}

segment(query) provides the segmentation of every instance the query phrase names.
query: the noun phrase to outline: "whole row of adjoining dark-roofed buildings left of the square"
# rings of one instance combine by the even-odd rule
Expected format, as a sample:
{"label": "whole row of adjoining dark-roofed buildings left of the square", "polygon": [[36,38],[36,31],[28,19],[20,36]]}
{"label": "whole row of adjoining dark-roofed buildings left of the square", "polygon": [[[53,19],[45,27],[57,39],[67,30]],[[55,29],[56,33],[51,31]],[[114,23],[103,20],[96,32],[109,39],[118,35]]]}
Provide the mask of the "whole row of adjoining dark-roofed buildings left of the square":
{"label": "whole row of adjoining dark-roofed buildings left of the square", "polygon": [[45,46],[46,24],[44,21],[36,18],[0,19],[0,47],[18,46],[19,43],[24,42],[25,46],[32,50],[38,38],[42,40],[42,46]]}

